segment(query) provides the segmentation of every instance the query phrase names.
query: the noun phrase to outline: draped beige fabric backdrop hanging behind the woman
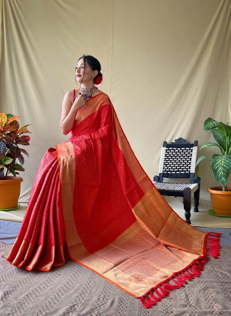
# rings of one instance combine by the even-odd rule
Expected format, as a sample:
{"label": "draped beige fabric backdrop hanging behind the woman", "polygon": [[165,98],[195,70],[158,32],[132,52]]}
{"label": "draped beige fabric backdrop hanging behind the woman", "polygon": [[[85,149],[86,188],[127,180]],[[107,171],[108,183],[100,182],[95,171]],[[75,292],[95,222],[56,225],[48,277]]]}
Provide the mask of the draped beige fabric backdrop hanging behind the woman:
{"label": "draped beige fabric backdrop hanging behind the woman", "polygon": [[[45,151],[70,136],[61,133],[61,106],[83,53],[99,59],[98,87],[151,180],[164,140],[197,139],[200,148],[213,142],[205,119],[231,124],[230,0],[1,0],[1,8],[0,111],[33,124],[19,202],[28,202]],[[209,161],[199,176],[208,210],[207,188],[217,185]]]}

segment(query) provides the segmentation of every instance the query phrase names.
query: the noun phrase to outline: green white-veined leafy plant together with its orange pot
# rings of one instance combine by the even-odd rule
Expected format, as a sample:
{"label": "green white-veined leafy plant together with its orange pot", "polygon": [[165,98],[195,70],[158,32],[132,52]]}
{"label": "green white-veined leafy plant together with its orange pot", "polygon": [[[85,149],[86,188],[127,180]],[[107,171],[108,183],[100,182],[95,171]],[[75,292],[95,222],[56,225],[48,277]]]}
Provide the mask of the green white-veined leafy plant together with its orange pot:
{"label": "green white-veined leafy plant together with its orange pot", "polygon": [[221,186],[214,186],[208,189],[211,202],[213,205],[214,214],[231,216],[231,187],[227,187],[228,177],[231,170],[231,126],[222,122],[215,121],[210,117],[204,121],[206,132],[212,131],[216,143],[206,143],[204,147],[216,146],[220,149],[221,154],[213,154],[211,159],[200,156],[196,162],[196,176],[198,172],[198,164],[206,159],[211,161],[211,169],[213,176]]}

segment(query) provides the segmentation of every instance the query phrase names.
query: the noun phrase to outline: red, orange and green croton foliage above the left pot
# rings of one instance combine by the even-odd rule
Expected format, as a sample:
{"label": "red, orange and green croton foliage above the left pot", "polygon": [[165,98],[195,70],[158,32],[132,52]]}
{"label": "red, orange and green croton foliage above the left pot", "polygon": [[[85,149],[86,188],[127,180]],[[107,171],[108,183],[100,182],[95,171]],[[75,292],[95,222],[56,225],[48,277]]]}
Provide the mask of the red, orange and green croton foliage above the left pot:
{"label": "red, orange and green croton foliage above the left pot", "polygon": [[[22,134],[31,133],[27,130],[27,126],[32,124],[19,128],[17,121],[19,118],[20,116],[0,113],[0,180],[6,180],[9,173],[16,177],[16,174],[20,174],[18,171],[25,171],[22,167],[24,164],[22,153],[28,157],[29,154],[25,149],[19,148],[18,145],[29,145],[30,137]],[[16,158],[21,164],[16,163]],[[5,175],[4,167],[6,168]]]}

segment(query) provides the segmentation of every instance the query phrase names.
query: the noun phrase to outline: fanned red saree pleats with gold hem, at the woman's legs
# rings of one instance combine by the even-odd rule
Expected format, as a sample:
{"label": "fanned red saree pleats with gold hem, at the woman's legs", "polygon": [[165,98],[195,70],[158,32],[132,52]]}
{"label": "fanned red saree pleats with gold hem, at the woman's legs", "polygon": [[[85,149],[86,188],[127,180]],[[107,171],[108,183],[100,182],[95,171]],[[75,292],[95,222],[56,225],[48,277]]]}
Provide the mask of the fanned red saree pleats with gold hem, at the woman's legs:
{"label": "fanned red saree pleats with gold hem, at the woman's legs", "polygon": [[43,155],[25,216],[7,261],[27,270],[49,271],[67,262],[65,226],[54,148]]}

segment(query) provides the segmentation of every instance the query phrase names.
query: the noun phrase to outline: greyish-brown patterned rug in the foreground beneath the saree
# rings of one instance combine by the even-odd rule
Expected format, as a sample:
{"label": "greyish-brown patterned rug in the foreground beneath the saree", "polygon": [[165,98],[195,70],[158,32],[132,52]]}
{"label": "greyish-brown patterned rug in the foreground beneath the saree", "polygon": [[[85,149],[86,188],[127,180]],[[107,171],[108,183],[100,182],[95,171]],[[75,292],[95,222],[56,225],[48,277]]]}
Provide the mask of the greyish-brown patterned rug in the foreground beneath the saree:
{"label": "greyish-brown patterned rug in the foreground beneath the saree", "polygon": [[13,266],[5,260],[10,247],[0,242],[1,316],[231,315],[231,246],[222,246],[218,259],[209,257],[199,277],[147,309],[71,259],[51,272]]}

